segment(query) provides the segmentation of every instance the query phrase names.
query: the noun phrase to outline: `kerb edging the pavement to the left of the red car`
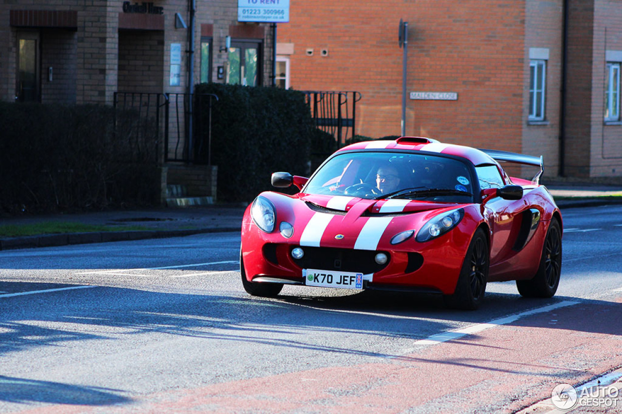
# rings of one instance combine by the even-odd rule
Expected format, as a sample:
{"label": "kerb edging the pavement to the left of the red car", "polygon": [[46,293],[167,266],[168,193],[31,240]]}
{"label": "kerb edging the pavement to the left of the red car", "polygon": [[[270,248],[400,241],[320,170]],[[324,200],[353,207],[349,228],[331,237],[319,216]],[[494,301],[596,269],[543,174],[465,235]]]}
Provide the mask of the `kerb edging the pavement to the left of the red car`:
{"label": "kerb edging the pavement to the left of the red car", "polygon": [[190,230],[103,231],[88,233],[43,234],[41,236],[7,237],[6,239],[0,239],[0,251],[11,249],[29,249],[32,247],[68,246],[71,244],[90,244],[144,239],[164,239],[167,237],[184,237],[203,233],[239,231],[241,231],[241,227],[205,228]]}

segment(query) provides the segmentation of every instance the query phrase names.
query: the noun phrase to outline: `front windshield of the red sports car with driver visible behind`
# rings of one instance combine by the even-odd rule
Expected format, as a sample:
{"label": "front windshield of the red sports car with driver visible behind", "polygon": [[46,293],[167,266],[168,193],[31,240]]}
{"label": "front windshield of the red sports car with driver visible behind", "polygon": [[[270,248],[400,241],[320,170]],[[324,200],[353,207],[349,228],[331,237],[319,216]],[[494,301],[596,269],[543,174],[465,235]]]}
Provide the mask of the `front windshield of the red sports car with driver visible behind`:
{"label": "front windshield of the red sports car with driver visible behind", "polygon": [[402,198],[472,203],[466,163],[430,154],[351,152],[339,154],[313,175],[304,192],[368,199]]}

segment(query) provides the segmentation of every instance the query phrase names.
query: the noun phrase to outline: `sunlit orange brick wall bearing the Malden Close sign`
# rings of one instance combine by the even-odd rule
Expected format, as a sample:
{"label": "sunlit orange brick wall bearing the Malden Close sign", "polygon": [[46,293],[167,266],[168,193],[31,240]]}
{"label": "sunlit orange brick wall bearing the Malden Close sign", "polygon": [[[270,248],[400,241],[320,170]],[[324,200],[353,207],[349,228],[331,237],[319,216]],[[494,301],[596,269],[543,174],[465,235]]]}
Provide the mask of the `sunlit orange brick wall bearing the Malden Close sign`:
{"label": "sunlit orange brick wall bearing the Malden Close sign", "polygon": [[[406,133],[521,150],[524,2],[304,2],[291,0],[279,42],[293,43],[291,85],[356,90],[358,134],[399,134],[402,49],[409,22],[408,91],[458,93],[457,101],[407,100]],[[313,55],[305,55],[307,48]],[[328,56],[320,54],[328,49]],[[501,142],[501,139],[503,142]]]}

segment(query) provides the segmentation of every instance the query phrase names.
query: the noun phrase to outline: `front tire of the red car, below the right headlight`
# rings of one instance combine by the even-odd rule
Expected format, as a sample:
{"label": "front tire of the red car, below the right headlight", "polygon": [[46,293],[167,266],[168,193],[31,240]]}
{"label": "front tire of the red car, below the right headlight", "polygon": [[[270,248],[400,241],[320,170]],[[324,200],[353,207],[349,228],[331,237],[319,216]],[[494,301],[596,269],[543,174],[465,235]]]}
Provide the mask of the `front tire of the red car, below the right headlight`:
{"label": "front tire of the red car, below the right headlight", "polygon": [[488,239],[482,229],[477,229],[466,251],[456,290],[452,295],[443,297],[445,305],[454,309],[476,310],[486,293],[489,269]]}

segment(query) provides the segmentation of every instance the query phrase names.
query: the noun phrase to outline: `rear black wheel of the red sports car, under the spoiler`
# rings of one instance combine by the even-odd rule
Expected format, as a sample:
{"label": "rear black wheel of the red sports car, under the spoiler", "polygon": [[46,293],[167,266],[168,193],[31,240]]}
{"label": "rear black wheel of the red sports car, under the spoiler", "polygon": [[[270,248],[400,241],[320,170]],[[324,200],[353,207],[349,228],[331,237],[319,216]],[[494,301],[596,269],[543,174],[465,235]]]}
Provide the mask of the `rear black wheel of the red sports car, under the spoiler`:
{"label": "rear black wheel of the red sports car, under the spoiler", "polygon": [[546,232],[540,266],[530,280],[517,280],[518,293],[526,298],[550,298],[557,292],[562,275],[562,229],[556,218]]}

